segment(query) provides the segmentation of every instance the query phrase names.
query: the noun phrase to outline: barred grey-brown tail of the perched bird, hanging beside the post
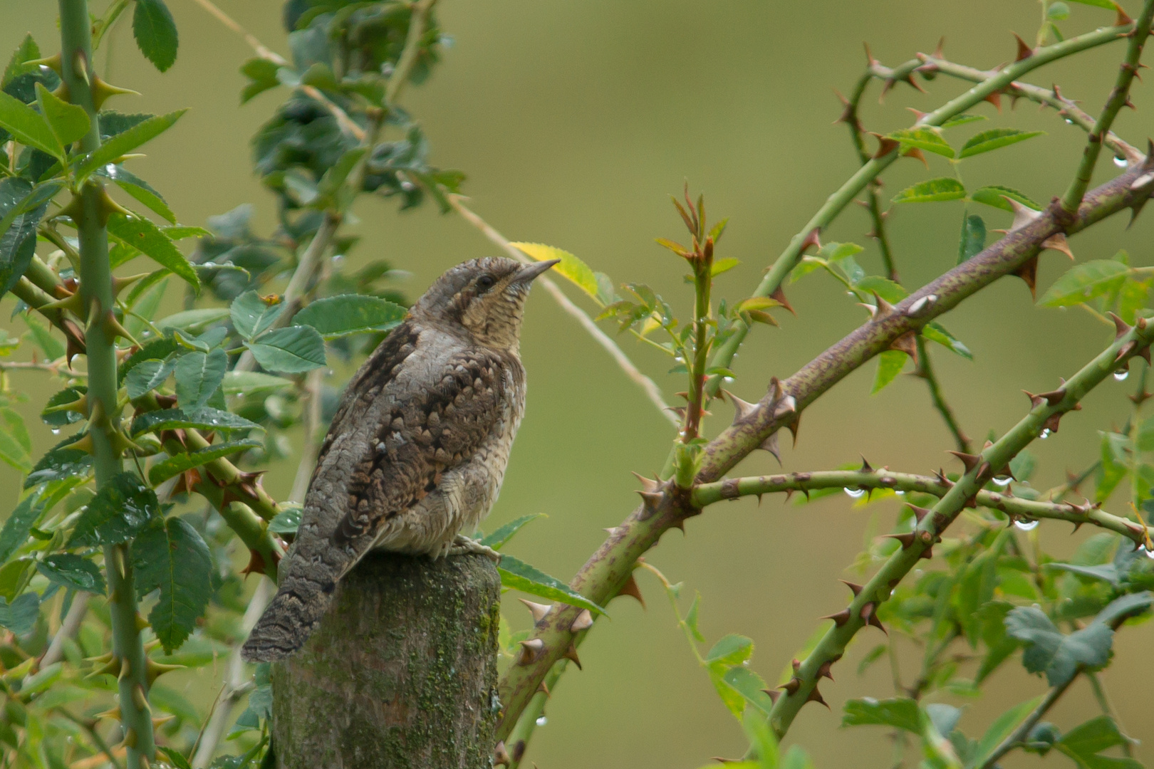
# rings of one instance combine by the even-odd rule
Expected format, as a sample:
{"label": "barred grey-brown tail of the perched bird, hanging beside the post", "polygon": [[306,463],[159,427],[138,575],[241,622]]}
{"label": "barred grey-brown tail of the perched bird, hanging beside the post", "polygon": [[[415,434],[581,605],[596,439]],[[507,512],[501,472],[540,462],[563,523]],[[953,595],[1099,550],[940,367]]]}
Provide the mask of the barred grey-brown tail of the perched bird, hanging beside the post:
{"label": "barred grey-brown tail of the perched bird, hanging beside the post", "polygon": [[[249,662],[283,659],[305,646],[321,617],[332,603],[337,575],[328,568],[292,568],[300,565],[297,559],[287,564],[290,571],[269,606],[256,621],[256,626],[241,648],[241,656]],[[323,573],[322,573],[323,572]]]}

